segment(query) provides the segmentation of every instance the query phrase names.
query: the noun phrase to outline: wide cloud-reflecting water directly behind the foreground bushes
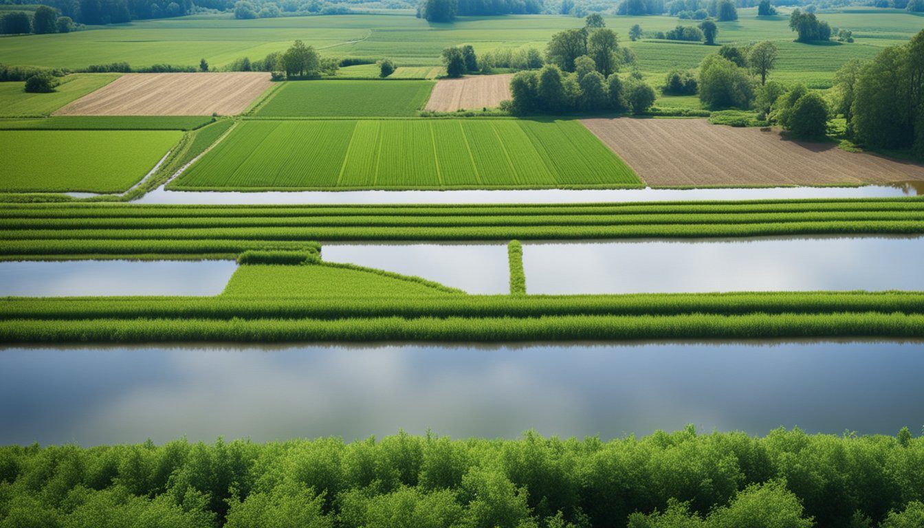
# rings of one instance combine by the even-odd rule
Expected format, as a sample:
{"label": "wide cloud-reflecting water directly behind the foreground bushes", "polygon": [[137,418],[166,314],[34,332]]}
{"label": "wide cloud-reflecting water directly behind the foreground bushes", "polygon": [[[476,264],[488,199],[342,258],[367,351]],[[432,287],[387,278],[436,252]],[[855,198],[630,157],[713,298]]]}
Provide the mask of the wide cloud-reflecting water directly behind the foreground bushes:
{"label": "wide cloud-reflecting water directly behind the foreground bushes", "polygon": [[0,445],[249,436],[603,439],[687,423],[895,434],[924,344],[393,345],[0,350]]}

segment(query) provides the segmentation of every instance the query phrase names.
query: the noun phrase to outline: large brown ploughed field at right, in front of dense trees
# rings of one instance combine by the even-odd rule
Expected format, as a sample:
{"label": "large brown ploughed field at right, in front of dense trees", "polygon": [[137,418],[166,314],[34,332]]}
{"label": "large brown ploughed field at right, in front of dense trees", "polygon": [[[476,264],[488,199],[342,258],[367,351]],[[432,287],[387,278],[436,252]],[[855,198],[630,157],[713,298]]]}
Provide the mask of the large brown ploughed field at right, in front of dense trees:
{"label": "large brown ploughed field at right, in front of dense trees", "polygon": [[924,166],[834,143],[789,141],[776,131],[705,119],[583,119],[651,186],[772,186],[924,180]]}

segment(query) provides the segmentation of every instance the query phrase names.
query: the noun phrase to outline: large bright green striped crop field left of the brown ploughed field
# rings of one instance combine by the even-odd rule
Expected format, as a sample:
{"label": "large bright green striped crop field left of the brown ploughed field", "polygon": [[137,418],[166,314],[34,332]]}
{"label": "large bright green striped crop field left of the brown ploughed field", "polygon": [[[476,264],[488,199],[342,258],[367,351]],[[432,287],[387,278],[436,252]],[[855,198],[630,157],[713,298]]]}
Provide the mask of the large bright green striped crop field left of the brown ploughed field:
{"label": "large bright green striped crop field left of the brown ploughed field", "polygon": [[415,119],[245,121],[171,185],[509,189],[634,187],[640,181],[576,120]]}

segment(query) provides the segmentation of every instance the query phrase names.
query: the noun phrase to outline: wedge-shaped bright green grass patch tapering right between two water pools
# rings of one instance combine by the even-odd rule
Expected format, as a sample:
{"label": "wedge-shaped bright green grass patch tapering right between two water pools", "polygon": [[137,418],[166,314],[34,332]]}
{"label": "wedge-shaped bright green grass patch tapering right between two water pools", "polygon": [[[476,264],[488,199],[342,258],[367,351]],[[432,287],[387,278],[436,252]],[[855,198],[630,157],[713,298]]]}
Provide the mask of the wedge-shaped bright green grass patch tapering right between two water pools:
{"label": "wedge-shaped bright green grass patch tapering right between two water pools", "polygon": [[237,268],[223,296],[342,299],[349,297],[432,296],[461,293],[419,277],[401,276],[350,264],[247,264]]}

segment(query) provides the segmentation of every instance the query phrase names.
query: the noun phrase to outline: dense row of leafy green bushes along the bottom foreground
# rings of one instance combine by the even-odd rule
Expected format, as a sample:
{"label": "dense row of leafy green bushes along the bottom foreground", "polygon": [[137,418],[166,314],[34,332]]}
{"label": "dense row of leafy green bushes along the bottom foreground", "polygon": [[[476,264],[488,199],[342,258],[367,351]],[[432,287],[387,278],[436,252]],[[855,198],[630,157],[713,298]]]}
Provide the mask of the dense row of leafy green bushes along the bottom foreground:
{"label": "dense row of leafy green bushes along the bottom foreground", "polygon": [[4,528],[919,528],[921,501],[907,428],[0,448]]}

